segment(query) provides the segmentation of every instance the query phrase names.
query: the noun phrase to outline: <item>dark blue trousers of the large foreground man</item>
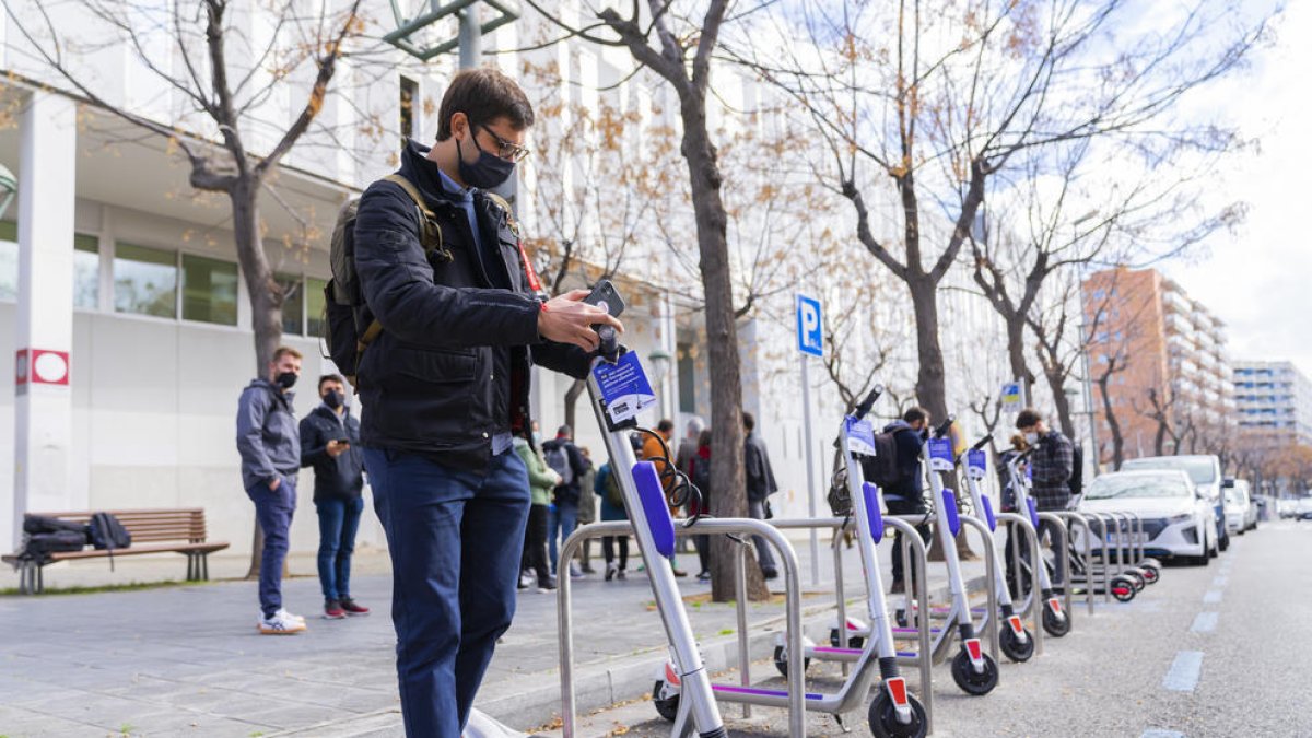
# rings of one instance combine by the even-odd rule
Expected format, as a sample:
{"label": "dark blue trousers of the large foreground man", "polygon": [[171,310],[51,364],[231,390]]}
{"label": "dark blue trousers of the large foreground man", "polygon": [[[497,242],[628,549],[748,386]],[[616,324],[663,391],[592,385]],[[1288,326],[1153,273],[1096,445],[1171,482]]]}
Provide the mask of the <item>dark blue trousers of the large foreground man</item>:
{"label": "dark blue trousers of the large foreground man", "polygon": [[365,449],[392,558],[392,626],[405,734],[459,738],[496,640],[514,616],[529,517],[520,454],[466,471]]}

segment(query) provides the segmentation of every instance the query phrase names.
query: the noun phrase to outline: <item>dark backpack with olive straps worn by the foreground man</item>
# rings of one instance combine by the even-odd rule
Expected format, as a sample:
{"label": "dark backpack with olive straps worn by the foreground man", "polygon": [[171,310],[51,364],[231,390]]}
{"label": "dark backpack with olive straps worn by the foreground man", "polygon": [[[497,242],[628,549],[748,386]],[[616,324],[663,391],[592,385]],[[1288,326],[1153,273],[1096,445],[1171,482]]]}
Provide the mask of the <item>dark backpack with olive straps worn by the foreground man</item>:
{"label": "dark backpack with olive straps worn by the foreground man", "polygon": [[[420,223],[419,242],[424,247],[424,256],[432,257],[436,253],[438,260],[451,261],[454,259],[451,252],[442,248],[442,227],[437,222],[437,215],[428,207],[419,189],[401,175],[387,175],[383,180],[400,185],[405,194],[415,201]],[[324,343],[328,347],[328,358],[337,365],[337,369],[352,385],[357,383],[359,358],[365,353],[365,348],[383,332],[383,324],[377,319],[363,327],[359,320],[359,309],[365,307],[365,295],[361,293],[359,281],[356,277],[356,211],[358,209],[359,198],[357,197],[348,200],[337,211],[337,222],[333,225],[329,247],[332,278],[324,286],[323,315],[327,327]]]}

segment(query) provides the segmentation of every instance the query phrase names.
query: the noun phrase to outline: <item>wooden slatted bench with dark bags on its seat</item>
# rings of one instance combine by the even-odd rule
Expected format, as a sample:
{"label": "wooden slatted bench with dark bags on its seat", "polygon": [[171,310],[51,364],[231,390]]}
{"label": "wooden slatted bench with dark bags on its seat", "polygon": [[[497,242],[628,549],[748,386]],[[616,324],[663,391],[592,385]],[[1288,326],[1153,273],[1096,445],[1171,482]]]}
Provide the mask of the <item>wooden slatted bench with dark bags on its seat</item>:
{"label": "wooden slatted bench with dark bags on its seat", "polygon": [[[101,512],[101,511],[96,511]],[[108,510],[118,517],[123,528],[133,536],[133,545],[114,549],[115,557],[151,553],[180,553],[186,555],[186,580],[201,582],[210,578],[209,555],[228,548],[226,541],[205,540],[205,511],[189,510]],[[71,523],[89,523],[92,512],[35,512],[43,517],[58,517]],[[45,561],[33,561],[9,554],[0,561],[12,563],[18,570],[18,591],[24,595],[39,595],[45,590],[41,569],[55,561],[80,558],[108,558],[110,552],[85,548],[80,552],[54,552]]]}

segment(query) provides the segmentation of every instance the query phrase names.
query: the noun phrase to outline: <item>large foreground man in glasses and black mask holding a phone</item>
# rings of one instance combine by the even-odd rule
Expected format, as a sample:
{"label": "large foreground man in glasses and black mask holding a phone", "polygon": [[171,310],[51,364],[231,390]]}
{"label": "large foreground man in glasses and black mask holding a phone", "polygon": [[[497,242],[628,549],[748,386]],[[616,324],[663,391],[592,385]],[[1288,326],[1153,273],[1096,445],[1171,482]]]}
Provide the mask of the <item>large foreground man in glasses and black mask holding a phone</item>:
{"label": "large foreground man in glasses and black mask holding a phone", "polygon": [[585,290],[541,299],[518,225],[484,192],[527,155],[531,123],[527,97],[501,72],[451,79],[437,144],[411,142],[399,171],[441,230],[428,253],[400,185],[374,183],[359,200],[354,252],[367,309],[357,324],[383,328],[357,368],[361,443],[392,559],[412,737],[461,735],[514,615],[530,494],[512,432],[531,428],[533,364],[583,378],[600,343],[592,326],[622,328],[583,302]]}

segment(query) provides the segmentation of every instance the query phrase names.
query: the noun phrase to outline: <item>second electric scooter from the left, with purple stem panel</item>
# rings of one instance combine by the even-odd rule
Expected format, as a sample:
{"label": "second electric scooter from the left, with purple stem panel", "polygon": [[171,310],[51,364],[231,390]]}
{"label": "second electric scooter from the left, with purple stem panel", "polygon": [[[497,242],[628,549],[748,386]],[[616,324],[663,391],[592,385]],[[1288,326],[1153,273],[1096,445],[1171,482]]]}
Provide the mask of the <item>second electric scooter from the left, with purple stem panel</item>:
{"label": "second electric scooter from the left, with purple stem panel", "polygon": [[[879,559],[875,552],[875,544],[884,533],[879,490],[875,485],[865,481],[861,467],[861,458],[875,453],[874,428],[863,416],[882,391],[883,387],[875,387],[851,415],[844,418],[838,436],[840,448],[845,449],[848,491],[851,495],[853,519],[857,525],[857,546],[865,570],[867,605],[874,620],[872,632],[876,636],[867,638],[863,647],[859,649],[813,649],[813,646],[806,649],[807,657],[803,661],[803,670],[811,655],[844,657],[836,661],[851,661],[857,664],[836,693],[807,693],[806,709],[807,712],[833,714],[841,721],[844,713],[857,709],[865,703],[878,668],[882,688],[867,712],[870,731],[878,738],[920,738],[926,734],[929,727],[925,708],[907,689],[907,680],[899,671],[899,654],[893,643],[892,624],[884,603]],[[783,664],[781,671],[787,674],[789,654],[786,649],[782,653],[779,649],[775,650],[777,666],[781,662]],[[739,684],[711,684],[711,691],[716,699],[726,703],[782,706],[787,700],[787,692]],[[673,720],[678,700],[682,699],[681,685],[669,679],[657,682],[652,696],[656,699],[660,714]]]}

